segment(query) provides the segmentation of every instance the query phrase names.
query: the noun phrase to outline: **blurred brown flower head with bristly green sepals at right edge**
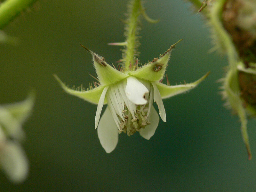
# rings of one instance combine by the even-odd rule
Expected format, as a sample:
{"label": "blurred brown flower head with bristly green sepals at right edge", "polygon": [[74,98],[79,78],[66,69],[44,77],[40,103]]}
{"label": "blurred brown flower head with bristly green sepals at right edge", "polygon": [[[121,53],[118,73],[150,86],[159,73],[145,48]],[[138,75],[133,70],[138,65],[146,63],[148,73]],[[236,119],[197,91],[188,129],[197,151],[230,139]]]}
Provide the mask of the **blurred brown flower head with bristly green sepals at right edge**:
{"label": "blurred brown flower head with bristly green sepals at right edge", "polygon": [[[199,0],[190,2],[196,7],[200,4]],[[214,0],[202,12],[212,28],[215,49],[228,56],[227,73],[221,79],[222,95],[227,101],[225,105],[241,121],[242,137],[251,159],[247,114],[256,116],[256,1]]]}

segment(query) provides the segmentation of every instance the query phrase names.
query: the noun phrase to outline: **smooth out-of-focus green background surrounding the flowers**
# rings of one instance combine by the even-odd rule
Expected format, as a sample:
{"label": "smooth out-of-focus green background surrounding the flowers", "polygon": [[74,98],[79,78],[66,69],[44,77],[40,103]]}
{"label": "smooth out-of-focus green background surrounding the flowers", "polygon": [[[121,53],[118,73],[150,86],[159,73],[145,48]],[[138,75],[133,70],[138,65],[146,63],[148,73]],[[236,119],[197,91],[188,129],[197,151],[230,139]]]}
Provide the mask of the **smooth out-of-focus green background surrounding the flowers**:
{"label": "smooth out-of-focus green background surrounding the flowers", "polygon": [[28,179],[12,184],[0,172],[0,191],[255,191],[255,120],[248,132],[252,160],[238,118],[223,107],[218,79],[227,58],[212,48],[200,14],[180,0],[147,0],[156,24],[141,22],[140,61],[164,53],[179,39],[167,75],[172,85],[192,82],[207,71],[197,88],[164,100],[167,122],[160,120],[148,141],[137,133],[119,135],[107,154],[94,130],[96,105],[66,94],[53,78],[87,87],[96,76],[92,57],[79,43],[108,63],[121,58],[122,20],[127,1],[39,0],[4,28],[19,39],[1,44],[0,103],[23,100],[36,90],[33,113],[23,125],[30,162]]}

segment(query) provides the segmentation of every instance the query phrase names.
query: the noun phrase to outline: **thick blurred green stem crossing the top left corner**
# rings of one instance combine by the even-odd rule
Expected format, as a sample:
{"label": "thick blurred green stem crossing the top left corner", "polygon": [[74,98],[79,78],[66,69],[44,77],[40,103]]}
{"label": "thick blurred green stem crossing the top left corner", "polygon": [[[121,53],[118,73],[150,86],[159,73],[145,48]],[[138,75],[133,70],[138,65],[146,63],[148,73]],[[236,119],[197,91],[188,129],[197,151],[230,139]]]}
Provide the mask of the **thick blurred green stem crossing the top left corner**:
{"label": "thick blurred green stem crossing the top left corner", "polygon": [[6,0],[0,4],[0,29],[8,25],[22,10],[35,0]]}

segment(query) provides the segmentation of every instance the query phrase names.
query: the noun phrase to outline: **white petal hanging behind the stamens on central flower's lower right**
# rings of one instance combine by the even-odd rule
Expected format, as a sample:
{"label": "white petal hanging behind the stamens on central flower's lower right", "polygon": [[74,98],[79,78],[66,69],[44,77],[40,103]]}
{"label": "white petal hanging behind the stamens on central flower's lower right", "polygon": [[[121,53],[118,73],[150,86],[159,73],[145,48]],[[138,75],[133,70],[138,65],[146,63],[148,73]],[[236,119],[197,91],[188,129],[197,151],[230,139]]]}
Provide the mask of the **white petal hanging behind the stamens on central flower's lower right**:
{"label": "white petal hanging behind the stamens on central flower's lower right", "polygon": [[141,137],[148,140],[150,139],[150,137],[152,137],[155,134],[155,131],[159,122],[159,116],[154,107],[152,107],[151,109],[149,119],[151,124],[147,125],[144,129],[140,129]]}

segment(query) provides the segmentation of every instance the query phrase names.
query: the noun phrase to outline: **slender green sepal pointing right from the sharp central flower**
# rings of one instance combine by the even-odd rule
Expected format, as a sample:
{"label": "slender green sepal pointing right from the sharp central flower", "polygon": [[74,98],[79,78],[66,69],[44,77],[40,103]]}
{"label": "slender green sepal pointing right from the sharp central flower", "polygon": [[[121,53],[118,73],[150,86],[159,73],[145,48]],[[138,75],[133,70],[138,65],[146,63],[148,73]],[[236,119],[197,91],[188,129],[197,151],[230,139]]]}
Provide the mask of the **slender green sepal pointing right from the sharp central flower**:
{"label": "slender green sepal pointing right from the sharp central flower", "polygon": [[210,72],[206,73],[203,77],[201,77],[197,81],[195,81],[193,83],[187,83],[185,85],[168,86],[168,85],[158,82],[158,83],[156,83],[156,86],[161,94],[161,97],[164,99],[164,98],[172,97],[174,95],[189,91],[190,89],[193,89],[200,82],[202,82],[209,75],[209,73]]}

